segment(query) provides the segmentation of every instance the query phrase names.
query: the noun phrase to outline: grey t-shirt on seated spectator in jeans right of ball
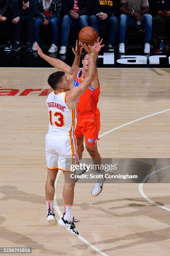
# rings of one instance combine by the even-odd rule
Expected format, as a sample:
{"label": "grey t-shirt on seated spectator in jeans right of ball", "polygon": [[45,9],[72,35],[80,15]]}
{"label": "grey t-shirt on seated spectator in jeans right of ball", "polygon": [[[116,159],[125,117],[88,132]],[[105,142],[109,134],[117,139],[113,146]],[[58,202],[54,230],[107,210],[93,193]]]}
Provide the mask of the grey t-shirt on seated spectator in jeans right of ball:
{"label": "grey t-shirt on seated spectator in jeans right of ball", "polygon": [[148,0],[120,0],[120,3],[127,3],[129,10],[141,10],[143,7],[149,6]]}

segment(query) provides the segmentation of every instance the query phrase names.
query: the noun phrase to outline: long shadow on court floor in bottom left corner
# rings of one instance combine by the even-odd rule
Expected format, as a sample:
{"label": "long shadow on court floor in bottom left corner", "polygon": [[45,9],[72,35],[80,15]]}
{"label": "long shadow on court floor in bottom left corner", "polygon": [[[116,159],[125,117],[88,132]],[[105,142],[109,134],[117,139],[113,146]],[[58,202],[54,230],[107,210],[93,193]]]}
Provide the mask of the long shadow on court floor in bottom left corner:
{"label": "long shadow on court floor in bottom left corner", "polygon": [[15,243],[15,245],[18,244],[18,247],[20,247],[21,245],[23,245],[24,247],[32,247],[32,253],[33,253],[33,250],[37,249],[37,250],[39,250],[38,253],[43,253],[45,255],[47,255],[47,254],[56,254],[56,255],[67,254],[66,252],[63,252],[63,251],[55,251],[55,250],[50,250],[49,248],[45,248],[43,244],[37,243],[36,241],[32,240],[28,236],[25,236],[23,234],[20,234],[20,233],[17,233],[15,231],[11,231],[11,230],[5,228],[4,226],[2,226],[2,223],[4,223],[5,220],[6,219],[3,216],[0,216],[0,238],[10,241],[11,244],[6,245],[6,243],[5,243],[4,246],[13,247],[13,244]]}

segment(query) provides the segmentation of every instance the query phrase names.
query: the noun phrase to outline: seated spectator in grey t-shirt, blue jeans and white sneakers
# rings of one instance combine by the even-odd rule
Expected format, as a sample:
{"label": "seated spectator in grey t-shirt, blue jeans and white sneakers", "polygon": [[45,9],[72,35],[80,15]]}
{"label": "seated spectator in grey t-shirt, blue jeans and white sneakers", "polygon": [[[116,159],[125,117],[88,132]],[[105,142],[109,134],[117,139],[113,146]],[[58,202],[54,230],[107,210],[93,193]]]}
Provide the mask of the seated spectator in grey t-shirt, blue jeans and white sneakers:
{"label": "seated spectator in grey t-shirt, blue jeans and white sneakers", "polygon": [[149,13],[148,0],[120,0],[119,52],[125,53],[125,35],[127,25],[145,27],[144,53],[150,53],[152,38],[152,16]]}

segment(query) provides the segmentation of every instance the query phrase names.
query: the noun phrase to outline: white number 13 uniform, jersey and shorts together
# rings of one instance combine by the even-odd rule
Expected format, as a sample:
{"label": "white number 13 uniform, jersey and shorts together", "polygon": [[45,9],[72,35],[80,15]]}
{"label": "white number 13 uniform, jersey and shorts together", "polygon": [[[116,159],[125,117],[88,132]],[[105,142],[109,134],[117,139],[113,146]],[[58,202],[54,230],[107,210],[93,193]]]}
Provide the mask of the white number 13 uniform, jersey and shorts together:
{"label": "white number 13 uniform, jersey and shorts together", "polygon": [[45,136],[45,154],[48,169],[70,171],[71,164],[78,163],[77,143],[74,130],[77,124],[76,110],[70,110],[66,92],[47,97],[49,130]]}

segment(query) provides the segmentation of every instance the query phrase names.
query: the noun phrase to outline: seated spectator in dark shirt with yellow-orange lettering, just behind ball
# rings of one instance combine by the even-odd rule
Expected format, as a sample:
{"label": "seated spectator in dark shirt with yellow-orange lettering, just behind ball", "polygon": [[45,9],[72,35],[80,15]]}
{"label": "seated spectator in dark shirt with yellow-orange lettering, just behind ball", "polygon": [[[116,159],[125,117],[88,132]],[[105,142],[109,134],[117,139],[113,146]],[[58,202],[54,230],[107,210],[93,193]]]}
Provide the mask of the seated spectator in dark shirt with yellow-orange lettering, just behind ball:
{"label": "seated spectator in dark shirt with yellow-orange lettering, just behind ball", "polygon": [[98,34],[98,26],[109,26],[108,51],[114,51],[115,36],[118,27],[119,0],[101,1],[93,0],[92,14],[89,18],[90,26],[94,27]]}

